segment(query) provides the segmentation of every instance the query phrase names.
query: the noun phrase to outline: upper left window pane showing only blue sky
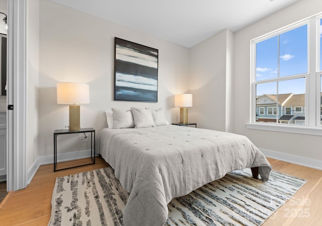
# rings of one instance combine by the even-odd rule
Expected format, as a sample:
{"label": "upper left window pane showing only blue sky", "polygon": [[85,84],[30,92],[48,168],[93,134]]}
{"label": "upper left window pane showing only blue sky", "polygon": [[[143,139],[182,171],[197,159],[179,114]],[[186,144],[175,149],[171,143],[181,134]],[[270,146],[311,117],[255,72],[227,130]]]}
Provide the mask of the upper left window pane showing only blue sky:
{"label": "upper left window pane showing only blue sky", "polygon": [[278,36],[256,44],[256,81],[277,78]]}

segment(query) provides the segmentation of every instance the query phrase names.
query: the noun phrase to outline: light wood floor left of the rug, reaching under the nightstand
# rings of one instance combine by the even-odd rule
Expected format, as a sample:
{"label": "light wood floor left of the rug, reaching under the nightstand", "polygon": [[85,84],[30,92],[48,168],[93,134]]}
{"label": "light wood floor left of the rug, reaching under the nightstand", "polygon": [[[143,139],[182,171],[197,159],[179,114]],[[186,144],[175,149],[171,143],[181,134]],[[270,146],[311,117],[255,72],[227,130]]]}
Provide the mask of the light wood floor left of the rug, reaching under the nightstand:
{"label": "light wood floor left of the rug, reaching under the nightstand", "polygon": [[[62,162],[61,167],[68,167],[74,162],[83,164],[82,159]],[[109,166],[101,157],[96,163],[53,172],[53,164],[39,167],[32,182],[26,189],[13,192],[0,209],[1,225],[48,225],[51,215],[51,195],[56,177],[63,177]]]}

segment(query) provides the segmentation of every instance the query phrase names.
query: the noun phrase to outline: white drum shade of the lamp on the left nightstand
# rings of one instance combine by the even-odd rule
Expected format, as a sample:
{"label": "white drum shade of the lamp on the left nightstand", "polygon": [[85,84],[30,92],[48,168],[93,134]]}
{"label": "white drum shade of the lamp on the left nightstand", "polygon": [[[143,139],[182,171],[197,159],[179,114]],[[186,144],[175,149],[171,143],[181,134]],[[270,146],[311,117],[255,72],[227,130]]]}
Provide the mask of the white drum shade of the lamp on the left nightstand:
{"label": "white drum shade of the lamp on the left nightstand", "polygon": [[84,83],[57,83],[57,103],[90,103],[90,86]]}

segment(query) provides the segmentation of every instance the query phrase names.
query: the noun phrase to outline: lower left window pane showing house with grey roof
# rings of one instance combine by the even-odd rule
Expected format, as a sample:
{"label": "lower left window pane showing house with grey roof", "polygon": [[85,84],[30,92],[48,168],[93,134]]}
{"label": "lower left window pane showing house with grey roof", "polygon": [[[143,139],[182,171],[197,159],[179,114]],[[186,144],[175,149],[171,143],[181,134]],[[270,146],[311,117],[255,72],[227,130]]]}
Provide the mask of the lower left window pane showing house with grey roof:
{"label": "lower left window pane showing house with grey roof", "polygon": [[[256,122],[276,123],[277,83],[256,85]],[[263,114],[262,114],[263,113]]]}

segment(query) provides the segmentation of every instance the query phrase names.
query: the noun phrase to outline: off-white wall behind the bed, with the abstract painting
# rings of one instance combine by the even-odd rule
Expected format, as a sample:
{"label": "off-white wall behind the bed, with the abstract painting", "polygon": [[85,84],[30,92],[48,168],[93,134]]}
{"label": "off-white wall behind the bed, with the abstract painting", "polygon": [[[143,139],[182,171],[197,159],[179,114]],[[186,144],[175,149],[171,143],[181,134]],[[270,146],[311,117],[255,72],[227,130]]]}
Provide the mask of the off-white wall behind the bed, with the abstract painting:
{"label": "off-white wall behind the bed, with the abstract painting", "polygon": [[[90,104],[81,105],[81,127],[100,132],[104,111],[162,107],[170,122],[179,109],[173,95],[188,89],[189,49],[145,33],[78,12],[48,0],[40,1],[39,46],[39,155],[53,154],[53,131],[68,125],[68,105],[57,104],[57,82],[90,85]],[[158,49],[158,102],[114,101],[114,37]],[[78,141],[78,145],[74,145]],[[74,136],[62,151],[87,149]]]}

